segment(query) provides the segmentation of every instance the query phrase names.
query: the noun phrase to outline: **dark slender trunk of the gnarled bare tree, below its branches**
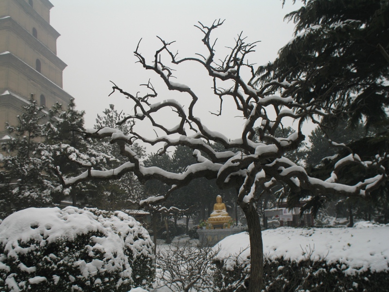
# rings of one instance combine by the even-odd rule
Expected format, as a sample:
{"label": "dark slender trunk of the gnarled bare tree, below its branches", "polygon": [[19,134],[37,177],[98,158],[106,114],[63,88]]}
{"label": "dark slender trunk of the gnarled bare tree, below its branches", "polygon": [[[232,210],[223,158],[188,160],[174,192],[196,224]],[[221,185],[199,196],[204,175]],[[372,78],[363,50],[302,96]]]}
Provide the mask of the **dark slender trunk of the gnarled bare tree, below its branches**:
{"label": "dark slender trunk of the gnarled bare tree, below its branches", "polygon": [[264,251],[262,245],[261,221],[257,210],[252,204],[243,209],[247,219],[248,234],[250,237],[251,269],[248,292],[262,290],[264,275]]}

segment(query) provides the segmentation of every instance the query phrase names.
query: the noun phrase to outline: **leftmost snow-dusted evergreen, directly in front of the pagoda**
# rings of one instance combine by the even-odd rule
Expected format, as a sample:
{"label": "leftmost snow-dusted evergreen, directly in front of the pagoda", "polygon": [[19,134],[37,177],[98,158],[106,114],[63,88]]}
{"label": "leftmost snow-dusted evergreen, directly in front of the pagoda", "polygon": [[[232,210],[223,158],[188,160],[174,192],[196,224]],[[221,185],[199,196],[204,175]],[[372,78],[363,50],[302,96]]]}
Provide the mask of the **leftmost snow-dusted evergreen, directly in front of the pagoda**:
{"label": "leftmost snow-dusted evergreen, directly in front of the pagoda", "polygon": [[10,138],[1,144],[1,217],[28,207],[49,206],[62,190],[53,175],[53,153],[43,142],[47,135],[43,107],[32,95],[23,109],[17,126],[7,123]]}

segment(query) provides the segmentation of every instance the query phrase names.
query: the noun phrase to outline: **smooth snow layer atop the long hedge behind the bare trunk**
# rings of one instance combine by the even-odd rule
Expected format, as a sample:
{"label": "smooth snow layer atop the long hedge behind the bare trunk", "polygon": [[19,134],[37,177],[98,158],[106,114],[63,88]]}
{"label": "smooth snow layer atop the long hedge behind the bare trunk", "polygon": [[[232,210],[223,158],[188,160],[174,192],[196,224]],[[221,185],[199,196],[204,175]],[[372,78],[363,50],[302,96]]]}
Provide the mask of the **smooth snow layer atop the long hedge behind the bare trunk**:
{"label": "smooth snow layer atop the long hedge behind the bare trunk", "polygon": [[[325,260],[328,264],[339,261],[347,266],[345,274],[389,270],[389,224],[363,221],[352,228],[293,228],[281,227],[262,232],[264,255],[269,259],[281,258],[300,262]],[[217,257],[225,259],[239,255],[243,261],[250,255],[248,233],[226,237],[218,243]],[[226,261],[232,264],[233,261]]]}

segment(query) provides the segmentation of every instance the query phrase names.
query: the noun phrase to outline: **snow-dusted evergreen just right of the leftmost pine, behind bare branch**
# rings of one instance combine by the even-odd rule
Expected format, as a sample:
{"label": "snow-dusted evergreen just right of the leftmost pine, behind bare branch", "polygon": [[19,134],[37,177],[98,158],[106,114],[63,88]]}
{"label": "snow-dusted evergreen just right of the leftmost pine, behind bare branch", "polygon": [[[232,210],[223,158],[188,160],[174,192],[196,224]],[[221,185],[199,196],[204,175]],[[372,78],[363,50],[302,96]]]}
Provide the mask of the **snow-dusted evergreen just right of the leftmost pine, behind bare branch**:
{"label": "snow-dusted evergreen just right of the leftmost pine, behind bare branch", "polygon": [[[75,176],[91,167],[106,170],[119,165],[119,160],[115,157],[117,153],[112,151],[109,142],[96,146],[91,138],[85,137],[85,112],[75,109],[74,99],[71,99],[65,110],[62,105],[55,104],[50,114],[52,123],[48,124],[50,127],[46,142],[52,147],[55,164],[64,177]],[[119,208],[122,209],[123,198],[116,198],[123,193],[121,186],[114,182],[84,182],[68,189],[67,197],[71,198],[74,206],[116,210],[122,203]]]}

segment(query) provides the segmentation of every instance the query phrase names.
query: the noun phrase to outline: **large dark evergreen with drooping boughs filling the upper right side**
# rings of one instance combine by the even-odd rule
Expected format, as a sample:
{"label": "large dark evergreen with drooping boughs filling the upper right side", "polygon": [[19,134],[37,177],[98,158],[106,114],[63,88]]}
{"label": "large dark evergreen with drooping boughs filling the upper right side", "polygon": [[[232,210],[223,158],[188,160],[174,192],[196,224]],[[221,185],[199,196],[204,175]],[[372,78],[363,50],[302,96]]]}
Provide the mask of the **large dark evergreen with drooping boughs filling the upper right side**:
{"label": "large dark evergreen with drooping boughs filling the upper right side", "polygon": [[[296,102],[308,106],[320,127],[310,136],[310,175],[328,176],[330,168],[350,153],[370,159],[387,152],[389,1],[309,0],[285,18],[296,23],[295,37],[279,51],[274,62],[258,68],[257,82],[270,91],[289,83],[301,85],[298,91],[284,94],[291,94]],[[314,110],[329,114],[318,119]],[[341,143],[347,147],[334,147]],[[325,156],[332,157],[321,161]],[[336,175],[341,183],[356,183],[357,174],[369,175],[358,167],[349,167]],[[388,197],[387,187],[371,192],[368,204],[354,198],[339,202],[348,208],[352,218],[356,205],[371,208],[374,201],[380,201],[378,193],[383,199]],[[311,192],[289,193],[288,199],[293,204],[307,195],[312,200],[305,208],[314,212],[333,200],[332,196]]]}

